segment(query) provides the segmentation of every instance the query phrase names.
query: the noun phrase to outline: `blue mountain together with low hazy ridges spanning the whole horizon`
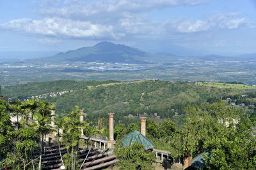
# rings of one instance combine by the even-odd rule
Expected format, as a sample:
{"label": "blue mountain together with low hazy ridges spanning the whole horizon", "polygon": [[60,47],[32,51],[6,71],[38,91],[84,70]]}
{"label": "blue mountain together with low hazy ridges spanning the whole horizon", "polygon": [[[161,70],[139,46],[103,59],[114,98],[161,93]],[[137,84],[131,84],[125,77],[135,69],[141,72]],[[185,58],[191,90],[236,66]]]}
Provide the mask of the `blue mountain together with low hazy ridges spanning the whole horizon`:
{"label": "blue mountain together with low hazy ridges spanning the whole horizon", "polygon": [[[35,64],[60,64],[61,62],[119,62],[119,63],[136,63],[146,64],[150,62],[177,62],[179,59],[199,59],[199,60],[255,60],[256,53],[248,53],[243,55],[178,55],[177,50],[182,50],[177,46],[177,49],[170,48],[170,52],[148,53],[138,48],[133,48],[127,45],[115,44],[108,41],[102,41],[94,46],[78,48],[77,50],[69,50],[60,52],[51,57],[41,57],[36,59],[26,60],[3,60],[3,64],[26,63],[32,62]],[[46,53],[46,52],[45,52]],[[1,53],[0,53],[1,55]],[[0,60],[1,62],[1,60]]]}

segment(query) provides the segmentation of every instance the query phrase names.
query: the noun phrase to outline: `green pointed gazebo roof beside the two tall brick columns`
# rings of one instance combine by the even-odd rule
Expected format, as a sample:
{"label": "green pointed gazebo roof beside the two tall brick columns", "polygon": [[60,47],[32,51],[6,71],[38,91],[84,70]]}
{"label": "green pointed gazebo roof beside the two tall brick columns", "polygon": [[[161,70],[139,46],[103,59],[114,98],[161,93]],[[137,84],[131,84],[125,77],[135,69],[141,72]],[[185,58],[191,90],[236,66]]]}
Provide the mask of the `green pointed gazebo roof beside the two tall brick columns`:
{"label": "green pointed gazebo roof beside the two tall brick columns", "polygon": [[123,139],[121,139],[123,146],[131,146],[132,143],[137,142],[141,143],[145,150],[149,150],[155,147],[154,143],[150,141],[147,137],[143,136],[140,132],[138,131],[132,131],[127,136],[125,136]]}

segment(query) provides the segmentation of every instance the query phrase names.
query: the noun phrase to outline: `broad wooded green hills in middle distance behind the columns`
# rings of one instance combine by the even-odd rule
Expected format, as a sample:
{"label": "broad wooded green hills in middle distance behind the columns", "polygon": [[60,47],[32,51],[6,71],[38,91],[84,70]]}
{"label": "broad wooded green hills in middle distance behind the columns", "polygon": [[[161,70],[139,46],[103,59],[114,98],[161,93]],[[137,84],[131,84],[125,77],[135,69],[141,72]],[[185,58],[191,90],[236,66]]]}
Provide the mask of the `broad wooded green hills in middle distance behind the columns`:
{"label": "broad wooded green hills in middle distance behind the columns", "polygon": [[[110,112],[115,112],[116,117],[157,113],[161,118],[173,118],[175,112],[182,114],[184,106],[188,104],[211,103],[223,96],[243,92],[239,89],[220,89],[170,81],[60,80],[4,87],[3,94],[24,99],[65,90],[74,91],[44,100],[56,103],[56,113],[59,115],[65,115],[77,105],[88,113],[90,120],[106,117],[106,113]],[[132,122],[132,118],[129,121]]]}

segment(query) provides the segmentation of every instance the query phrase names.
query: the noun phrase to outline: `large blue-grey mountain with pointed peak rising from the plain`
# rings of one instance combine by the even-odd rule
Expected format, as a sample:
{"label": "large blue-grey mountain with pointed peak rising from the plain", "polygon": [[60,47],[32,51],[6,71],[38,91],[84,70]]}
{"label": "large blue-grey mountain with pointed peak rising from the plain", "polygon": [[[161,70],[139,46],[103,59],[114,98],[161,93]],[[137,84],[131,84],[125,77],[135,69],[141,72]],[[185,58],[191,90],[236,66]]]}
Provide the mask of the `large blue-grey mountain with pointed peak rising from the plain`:
{"label": "large blue-grey mountain with pointed peak rising from the plain", "polygon": [[141,63],[142,59],[150,54],[126,45],[114,44],[102,41],[97,45],[71,50],[65,53],[58,53],[52,57],[45,57],[41,60],[48,62],[125,62]]}

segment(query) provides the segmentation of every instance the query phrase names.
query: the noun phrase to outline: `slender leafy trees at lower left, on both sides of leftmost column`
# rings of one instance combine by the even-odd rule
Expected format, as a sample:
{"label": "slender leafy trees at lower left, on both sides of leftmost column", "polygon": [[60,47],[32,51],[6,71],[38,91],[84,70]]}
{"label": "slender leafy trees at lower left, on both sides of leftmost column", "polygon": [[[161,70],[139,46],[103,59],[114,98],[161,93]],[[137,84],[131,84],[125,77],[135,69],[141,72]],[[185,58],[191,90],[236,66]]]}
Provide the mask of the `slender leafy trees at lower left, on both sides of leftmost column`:
{"label": "slender leafy trees at lower left, on both sides of leftmost column", "polygon": [[[97,127],[90,122],[79,121],[79,108],[67,113],[67,116],[55,121],[56,127],[51,126],[54,110],[52,103],[30,99],[29,101],[15,100],[10,103],[0,101],[0,167],[15,169],[42,169],[45,136],[51,132],[63,129],[58,133],[59,147],[65,145],[67,153],[63,155],[63,164],[67,169],[77,169],[79,147],[85,146],[80,141],[81,129],[86,136],[99,133]],[[15,122],[11,121],[15,119]],[[61,157],[62,159],[62,157]]]}

